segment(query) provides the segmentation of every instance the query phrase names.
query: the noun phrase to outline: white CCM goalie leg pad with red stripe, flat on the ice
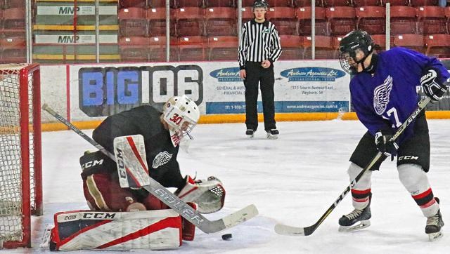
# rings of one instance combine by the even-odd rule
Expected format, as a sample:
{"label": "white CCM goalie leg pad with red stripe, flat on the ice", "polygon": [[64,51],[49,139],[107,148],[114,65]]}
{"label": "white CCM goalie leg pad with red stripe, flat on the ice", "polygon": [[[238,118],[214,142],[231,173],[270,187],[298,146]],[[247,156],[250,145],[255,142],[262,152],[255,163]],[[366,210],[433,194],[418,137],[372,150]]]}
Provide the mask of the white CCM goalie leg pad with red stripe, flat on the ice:
{"label": "white CCM goalie leg pad with red stripe, flat on the ice", "polygon": [[181,216],[172,209],[75,210],[56,213],[54,222],[51,250],[162,250],[181,246]]}

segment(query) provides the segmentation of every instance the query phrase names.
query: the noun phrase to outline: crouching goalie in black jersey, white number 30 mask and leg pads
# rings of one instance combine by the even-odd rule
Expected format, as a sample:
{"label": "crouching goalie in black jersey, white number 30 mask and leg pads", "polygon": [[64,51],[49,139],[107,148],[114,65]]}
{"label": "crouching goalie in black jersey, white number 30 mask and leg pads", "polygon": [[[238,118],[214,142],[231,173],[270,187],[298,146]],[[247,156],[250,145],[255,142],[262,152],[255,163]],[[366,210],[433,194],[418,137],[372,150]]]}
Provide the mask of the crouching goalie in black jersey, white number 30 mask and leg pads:
{"label": "crouching goalie in black jersey, white number 30 mask and leg pads", "polygon": [[[194,180],[189,175],[183,177],[176,161],[179,142],[182,138],[192,139],[189,133],[199,118],[200,111],[193,100],[186,95],[174,96],[165,103],[162,114],[157,109],[144,105],[108,116],[94,130],[92,138],[112,152],[117,149],[117,140],[129,138],[130,135],[141,135],[143,144],[137,142],[135,147],[131,146],[131,149],[137,150],[141,147],[141,152],[136,153],[138,156],[134,162],[143,162],[141,165],[144,165],[143,168],[148,166],[146,172],[148,171],[151,178],[164,187],[175,187],[175,194],[200,213],[214,213],[224,206],[225,190],[220,180],[214,177],[207,180]],[[89,208],[96,212],[57,213],[56,227],[51,233],[51,248],[53,246],[52,249],[56,250],[103,249],[106,245],[108,250],[161,249],[181,246],[181,239],[192,241],[195,236],[194,225],[174,213],[174,210],[169,209],[165,203],[145,189],[123,188],[120,174],[117,173],[122,161],[117,161],[116,163],[101,151],[85,152],[80,158],[84,196]],[[86,227],[81,226],[78,231],[73,229],[76,232],[72,234],[79,234],[78,232],[91,234],[86,238],[89,240],[82,242],[77,239],[83,234],[72,237],[67,232],[68,218],[72,218],[70,222],[77,221],[77,226],[86,227],[92,227],[91,223],[94,223],[93,220],[96,221],[95,223],[99,224],[95,227],[98,229],[98,235],[96,230],[86,232]],[[103,225],[106,222],[108,223]],[[108,228],[105,228],[105,225],[109,225]],[[148,227],[158,230],[148,231]],[[101,234],[113,235],[105,237]],[[134,237],[130,238],[130,234]],[[115,239],[114,244],[110,238]],[[67,239],[70,239],[70,243]]]}

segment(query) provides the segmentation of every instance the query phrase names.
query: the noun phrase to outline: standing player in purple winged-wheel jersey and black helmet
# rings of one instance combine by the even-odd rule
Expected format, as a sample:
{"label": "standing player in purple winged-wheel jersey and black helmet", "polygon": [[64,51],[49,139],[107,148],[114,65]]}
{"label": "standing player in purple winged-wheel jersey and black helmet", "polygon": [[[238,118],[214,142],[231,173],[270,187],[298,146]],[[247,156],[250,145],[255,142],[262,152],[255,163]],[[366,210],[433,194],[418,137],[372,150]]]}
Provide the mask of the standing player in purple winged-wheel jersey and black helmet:
{"label": "standing player in purple winged-wheel jersey and black helmet", "polygon": [[[397,156],[399,179],[410,192],[427,220],[425,233],[430,240],[442,236],[444,226],[439,199],[433,195],[425,173],[430,168],[430,137],[425,113],[400,135],[390,138],[418,107],[421,85],[432,102],[442,100],[449,82],[449,72],[436,58],[411,51],[392,48],[375,52],[375,43],[364,31],[356,30],[340,41],[340,64],[349,74],[352,106],[368,131],[359,141],[351,158],[348,174],[353,180],[378,152],[383,158],[367,171],[352,188],[354,210],[339,220],[340,231],[361,229],[370,225],[371,175],[380,164]],[[420,87],[420,86],[419,86]]]}

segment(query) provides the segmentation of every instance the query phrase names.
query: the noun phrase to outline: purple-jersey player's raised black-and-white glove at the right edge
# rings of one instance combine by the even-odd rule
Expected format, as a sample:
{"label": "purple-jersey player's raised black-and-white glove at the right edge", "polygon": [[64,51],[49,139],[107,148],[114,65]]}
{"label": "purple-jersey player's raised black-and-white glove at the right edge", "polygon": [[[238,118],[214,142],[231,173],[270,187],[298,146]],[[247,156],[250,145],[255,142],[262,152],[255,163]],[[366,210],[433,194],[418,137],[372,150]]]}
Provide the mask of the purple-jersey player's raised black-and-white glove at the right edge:
{"label": "purple-jersey player's raised black-and-white glove at the right edge", "polygon": [[442,100],[444,93],[447,91],[446,83],[441,83],[439,70],[429,68],[425,69],[420,78],[420,84],[423,86],[425,95],[431,98],[432,102]]}

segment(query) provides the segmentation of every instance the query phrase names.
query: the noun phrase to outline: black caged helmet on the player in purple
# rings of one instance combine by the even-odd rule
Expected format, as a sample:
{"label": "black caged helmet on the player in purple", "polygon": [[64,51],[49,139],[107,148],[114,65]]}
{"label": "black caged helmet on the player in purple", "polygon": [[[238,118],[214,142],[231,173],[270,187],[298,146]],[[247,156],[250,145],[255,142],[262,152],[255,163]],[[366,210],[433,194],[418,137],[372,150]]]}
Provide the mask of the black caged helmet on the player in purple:
{"label": "black caged helmet on the player in purple", "polygon": [[[357,68],[349,64],[349,57],[357,64],[364,62],[368,55],[370,55],[375,49],[375,42],[368,32],[363,30],[354,30],[349,32],[340,40],[340,66],[349,74],[356,74]],[[356,61],[356,50],[364,52],[364,58]]]}

